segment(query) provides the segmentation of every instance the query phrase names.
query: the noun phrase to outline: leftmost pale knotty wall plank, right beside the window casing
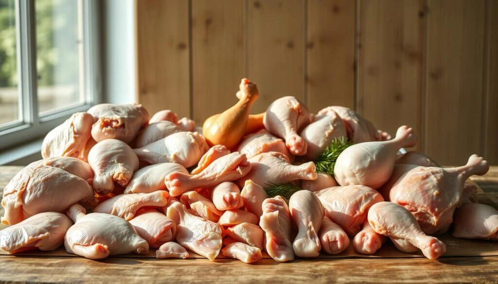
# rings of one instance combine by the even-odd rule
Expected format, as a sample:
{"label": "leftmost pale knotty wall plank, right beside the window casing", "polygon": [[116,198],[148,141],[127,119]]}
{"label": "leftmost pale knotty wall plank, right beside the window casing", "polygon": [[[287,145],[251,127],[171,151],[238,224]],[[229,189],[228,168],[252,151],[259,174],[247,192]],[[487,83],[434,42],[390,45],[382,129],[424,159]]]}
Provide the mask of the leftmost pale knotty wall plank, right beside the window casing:
{"label": "leftmost pale knotty wall plank, right beside the window casing", "polygon": [[135,1],[137,101],[190,116],[188,1]]}

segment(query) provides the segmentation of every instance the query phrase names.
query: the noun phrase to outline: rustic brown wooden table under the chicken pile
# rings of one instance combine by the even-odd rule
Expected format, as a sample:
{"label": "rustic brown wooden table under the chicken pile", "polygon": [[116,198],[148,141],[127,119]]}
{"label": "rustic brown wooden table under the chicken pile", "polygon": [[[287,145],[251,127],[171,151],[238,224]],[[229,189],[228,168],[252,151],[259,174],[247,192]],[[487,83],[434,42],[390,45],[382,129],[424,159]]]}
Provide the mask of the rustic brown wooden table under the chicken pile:
{"label": "rustic brown wooden table under the chicken pile", "polygon": [[[0,167],[0,189],[20,167]],[[498,167],[473,178],[498,204]],[[0,211],[0,214],[2,212]],[[0,256],[0,282],[19,283],[498,283],[498,256],[296,259],[156,260],[110,257],[101,261],[67,256]]]}

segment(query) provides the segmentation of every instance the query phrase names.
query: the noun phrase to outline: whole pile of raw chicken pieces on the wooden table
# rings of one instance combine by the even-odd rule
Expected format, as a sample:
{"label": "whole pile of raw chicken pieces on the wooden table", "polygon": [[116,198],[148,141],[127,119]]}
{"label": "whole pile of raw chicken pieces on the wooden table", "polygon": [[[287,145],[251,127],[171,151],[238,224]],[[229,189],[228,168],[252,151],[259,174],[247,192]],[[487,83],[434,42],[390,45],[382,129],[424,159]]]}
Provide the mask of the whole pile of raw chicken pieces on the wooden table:
{"label": "whole pile of raw chicken pieces on the wooden table", "polygon": [[[413,147],[413,130],[393,138],[355,111],[312,114],[293,96],[249,115],[258,97],[243,79],[238,102],[202,128],[140,104],[99,104],[47,134],[43,160],[5,187],[0,247],[10,253],[55,250],[90,259],[148,253],[157,258],[253,263],[339,254],[350,245],[375,253],[387,240],[402,252],[437,259],[436,236],[498,239],[498,211],[477,203],[466,183],[488,163],[441,168]],[[200,134],[202,133],[202,134]],[[338,137],[354,144],[317,173],[314,161]],[[299,187],[290,198],[270,185]],[[284,194],[282,194],[284,195]],[[91,212],[90,212],[91,211]]]}

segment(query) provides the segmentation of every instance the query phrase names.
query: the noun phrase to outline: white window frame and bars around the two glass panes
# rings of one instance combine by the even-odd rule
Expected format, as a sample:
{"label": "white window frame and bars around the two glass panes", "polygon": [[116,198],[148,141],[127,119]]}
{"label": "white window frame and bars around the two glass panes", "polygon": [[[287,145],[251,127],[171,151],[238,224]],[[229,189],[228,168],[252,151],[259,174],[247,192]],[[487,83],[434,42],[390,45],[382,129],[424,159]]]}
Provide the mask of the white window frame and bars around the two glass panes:
{"label": "white window frame and bars around the two glass panes", "polygon": [[83,90],[85,101],[78,106],[38,115],[36,71],[35,0],[16,0],[17,74],[20,78],[20,121],[0,128],[0,151],[40,139],[73,113],[86,111],[102,102],[100,66],[99,2],[77,0],[83,17]]}

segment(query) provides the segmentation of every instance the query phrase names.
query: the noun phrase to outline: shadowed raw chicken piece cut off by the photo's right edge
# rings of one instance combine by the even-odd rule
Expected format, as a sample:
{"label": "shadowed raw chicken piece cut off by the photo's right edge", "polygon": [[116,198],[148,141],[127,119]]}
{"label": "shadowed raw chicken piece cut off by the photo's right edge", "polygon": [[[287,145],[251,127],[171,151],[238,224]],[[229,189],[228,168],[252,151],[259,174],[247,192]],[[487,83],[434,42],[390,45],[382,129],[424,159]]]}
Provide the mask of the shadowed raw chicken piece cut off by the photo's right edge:
{"label": "shadowed raw chicken piece cut off by the photo's right edge", "polygon": [[481,203],[466,203],[455,210],[455,238],[498,241],[498,210]]}

